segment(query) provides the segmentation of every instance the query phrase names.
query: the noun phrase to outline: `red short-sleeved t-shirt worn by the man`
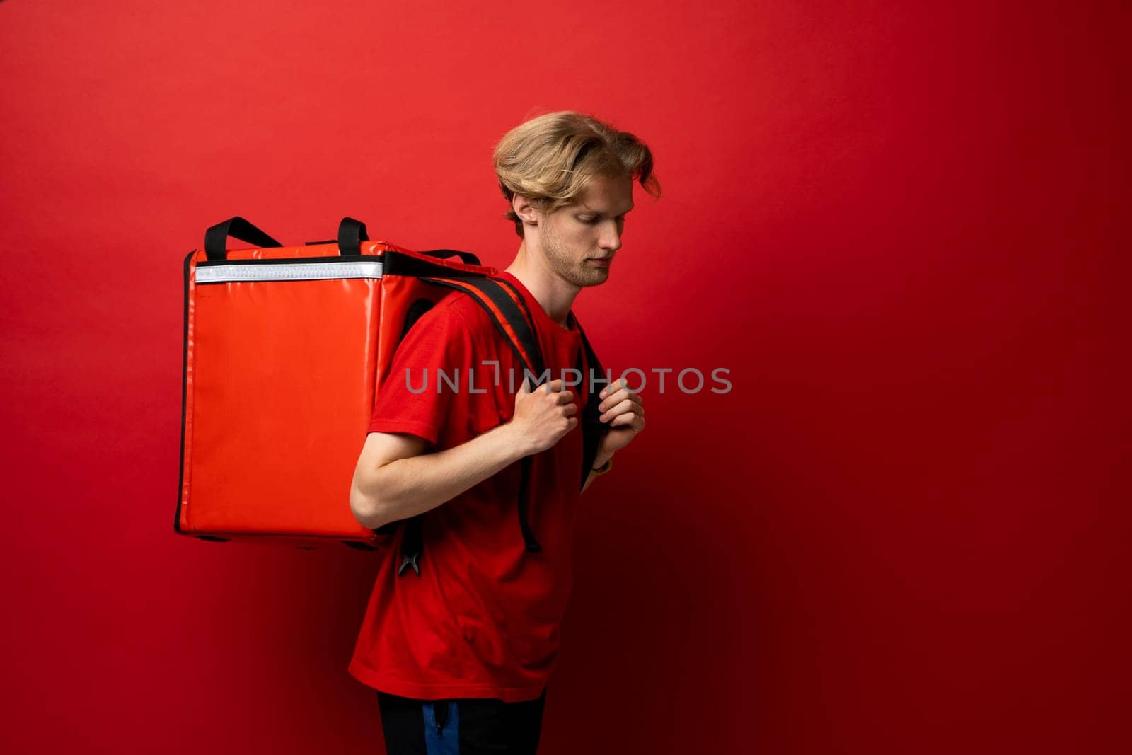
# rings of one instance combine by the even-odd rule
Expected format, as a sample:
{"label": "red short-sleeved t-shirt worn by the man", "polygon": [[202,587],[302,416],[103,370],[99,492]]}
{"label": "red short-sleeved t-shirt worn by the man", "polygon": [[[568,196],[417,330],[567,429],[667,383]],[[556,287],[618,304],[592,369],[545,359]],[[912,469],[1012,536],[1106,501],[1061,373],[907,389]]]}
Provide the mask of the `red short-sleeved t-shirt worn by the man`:
{"label": "red short-sleeved t-shirt worn by the man", "polygon": [[[526,301],[551,379],[577,367],[578,332],[550,319],[515,276],[499,277]],[[419,436],[432,444],[426,453],[458,446],[511,420],[522,377],[490,316],[454,292],[422,315],[397,349],[369,431]],[[578,418],[583,388],[571,388]],[[569,598],[581,474],[581,424],[534,455],[528,520],[540,552],[526,551],[518,524],[518,462],[423,515],[420,576],[411,568],[397,576],[400,527],[381,556],[350,672],[404,697],[538,697],[555,666]]]}

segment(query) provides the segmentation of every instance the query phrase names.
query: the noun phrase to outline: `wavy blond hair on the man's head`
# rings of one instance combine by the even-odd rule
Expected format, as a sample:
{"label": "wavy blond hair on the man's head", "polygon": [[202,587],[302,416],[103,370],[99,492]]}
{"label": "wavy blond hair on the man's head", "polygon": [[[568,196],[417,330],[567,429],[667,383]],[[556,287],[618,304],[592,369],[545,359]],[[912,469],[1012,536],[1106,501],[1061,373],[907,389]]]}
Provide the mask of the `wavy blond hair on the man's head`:
{"label": "wavy blond hair on the man's head", "polygon": [[[660,182],[652,174],[652,151],[628,131],[591,115],[561,110],[516,126],[496,145],[496,178],[508,203],[526,197],[544,214],[564,207],[598,175],[628,175],[653,197]],[[508,207],[504,215],[523,238],[523,221]]]}

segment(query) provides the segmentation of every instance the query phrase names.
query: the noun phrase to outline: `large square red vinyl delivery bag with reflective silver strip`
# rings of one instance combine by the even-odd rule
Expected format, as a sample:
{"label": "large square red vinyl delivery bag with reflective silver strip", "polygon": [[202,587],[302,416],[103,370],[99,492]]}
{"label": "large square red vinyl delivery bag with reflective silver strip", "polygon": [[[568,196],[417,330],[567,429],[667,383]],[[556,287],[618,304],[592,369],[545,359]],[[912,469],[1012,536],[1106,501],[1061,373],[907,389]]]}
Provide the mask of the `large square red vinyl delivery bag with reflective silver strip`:
{"label": "large square red vinyl delivery bag with reflective silver strip", "polygon": [[385,539],[354,520],[350,483],[410,310],[458,295],[420,277],[495,269],[360,235],[358,246],[206,241],[186,257],[177,532],[298,547]]}

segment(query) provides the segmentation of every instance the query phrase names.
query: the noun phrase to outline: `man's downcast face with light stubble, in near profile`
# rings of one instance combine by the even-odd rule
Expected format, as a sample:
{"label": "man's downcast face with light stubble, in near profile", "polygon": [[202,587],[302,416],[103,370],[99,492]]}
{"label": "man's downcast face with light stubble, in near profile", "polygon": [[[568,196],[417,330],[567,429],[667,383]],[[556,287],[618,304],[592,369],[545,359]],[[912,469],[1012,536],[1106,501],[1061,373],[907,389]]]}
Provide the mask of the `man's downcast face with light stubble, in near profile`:
{"label": "man's downcast face with light stubble, in near profile", "polygon": [[550,269],[578,288],[604,283],[631,209],[632,178],[597,177],[573,204],[540,215],[538,242]]}

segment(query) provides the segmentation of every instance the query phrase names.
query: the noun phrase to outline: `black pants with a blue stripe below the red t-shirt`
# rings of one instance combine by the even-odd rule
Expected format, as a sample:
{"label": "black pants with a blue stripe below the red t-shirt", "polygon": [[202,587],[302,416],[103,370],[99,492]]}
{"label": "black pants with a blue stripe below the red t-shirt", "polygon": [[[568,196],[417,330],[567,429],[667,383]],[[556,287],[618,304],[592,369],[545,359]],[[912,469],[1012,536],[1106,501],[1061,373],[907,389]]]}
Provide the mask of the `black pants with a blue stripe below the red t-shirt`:
{"label": "black pants with a blue stripe below the red t-shirt", "polygon": [[377,693],[388,755],[534,755],[547,690],[531,701],[412,700]]}

